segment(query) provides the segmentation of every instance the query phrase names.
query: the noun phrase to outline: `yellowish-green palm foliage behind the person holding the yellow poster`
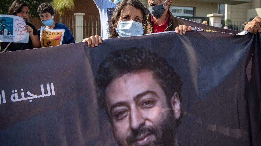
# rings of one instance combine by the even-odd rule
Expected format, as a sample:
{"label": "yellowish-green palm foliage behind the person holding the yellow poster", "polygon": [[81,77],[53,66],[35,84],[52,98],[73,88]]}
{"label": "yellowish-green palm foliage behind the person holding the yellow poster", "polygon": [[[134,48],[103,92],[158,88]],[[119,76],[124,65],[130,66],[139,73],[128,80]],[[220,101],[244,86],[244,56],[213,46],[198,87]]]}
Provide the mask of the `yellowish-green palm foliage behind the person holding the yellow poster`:
{"label": "yellowish-green palm foliage behind the person holding the yellow poster", "polygon": [[74,9],[73,0],[53,0],[51,5],[52,5],[54,11],[56,13],[59,13],[60,23],[62,23],[61,16],[64,15],[64,11]]}

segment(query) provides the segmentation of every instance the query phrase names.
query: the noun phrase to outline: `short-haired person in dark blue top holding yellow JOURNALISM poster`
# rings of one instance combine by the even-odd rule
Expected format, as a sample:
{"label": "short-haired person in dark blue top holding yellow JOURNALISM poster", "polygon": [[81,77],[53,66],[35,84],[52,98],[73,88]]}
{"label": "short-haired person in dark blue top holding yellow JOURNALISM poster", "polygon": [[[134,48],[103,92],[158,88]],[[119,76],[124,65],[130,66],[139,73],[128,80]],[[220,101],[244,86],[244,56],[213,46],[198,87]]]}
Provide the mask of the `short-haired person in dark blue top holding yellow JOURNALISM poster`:
{"label": "short-haired person in dark blue top holding yellow JOURNALISM poster", "polygon": [[37,12],[45,25],[38,29],[42,47],[75,43],[73,35],[67,26],[53,20],[54,10],[49,3],[44,2],[40,4]]}

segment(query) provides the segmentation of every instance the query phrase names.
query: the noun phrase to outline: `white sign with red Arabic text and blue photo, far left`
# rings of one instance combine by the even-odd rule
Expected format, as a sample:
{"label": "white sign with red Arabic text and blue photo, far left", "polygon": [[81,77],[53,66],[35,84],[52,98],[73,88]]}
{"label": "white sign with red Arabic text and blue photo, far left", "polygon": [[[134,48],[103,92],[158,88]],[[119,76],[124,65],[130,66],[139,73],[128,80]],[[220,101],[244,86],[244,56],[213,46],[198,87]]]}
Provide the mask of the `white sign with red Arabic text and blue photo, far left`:
{"label": "white sign with red Arabic text and blue photo, far left", "polygon": [[0,42],[28,43],[29,33],[24,19],[14,15],[0,15]]}

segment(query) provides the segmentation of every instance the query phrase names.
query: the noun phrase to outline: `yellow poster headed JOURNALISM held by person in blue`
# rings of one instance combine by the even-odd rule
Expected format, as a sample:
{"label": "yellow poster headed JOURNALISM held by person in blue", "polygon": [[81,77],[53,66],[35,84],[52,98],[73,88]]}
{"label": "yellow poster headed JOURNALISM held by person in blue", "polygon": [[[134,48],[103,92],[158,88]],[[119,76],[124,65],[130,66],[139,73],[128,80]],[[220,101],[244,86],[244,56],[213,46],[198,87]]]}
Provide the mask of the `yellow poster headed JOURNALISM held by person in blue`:
{"label": "yellow poster headed JOURNALISM held by person in blue", "polygon": [[64,29],[45,29],[41,27],[41,46],[42,47],[50,47],[61,45],[64,36]]}

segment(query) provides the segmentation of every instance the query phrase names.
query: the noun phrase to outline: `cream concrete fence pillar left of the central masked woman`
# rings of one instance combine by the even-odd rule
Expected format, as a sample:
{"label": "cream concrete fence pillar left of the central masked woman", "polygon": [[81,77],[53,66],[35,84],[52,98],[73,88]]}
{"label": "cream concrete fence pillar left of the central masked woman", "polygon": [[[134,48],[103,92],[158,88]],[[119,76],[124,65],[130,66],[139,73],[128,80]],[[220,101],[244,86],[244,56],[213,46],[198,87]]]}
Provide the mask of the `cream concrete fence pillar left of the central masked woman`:
{"label": "cream concrete fence pillar left of the central masked woman", "polygon": [[83,40],[83,16],[85,13],[74,13],[75,16],[75,42]]}

